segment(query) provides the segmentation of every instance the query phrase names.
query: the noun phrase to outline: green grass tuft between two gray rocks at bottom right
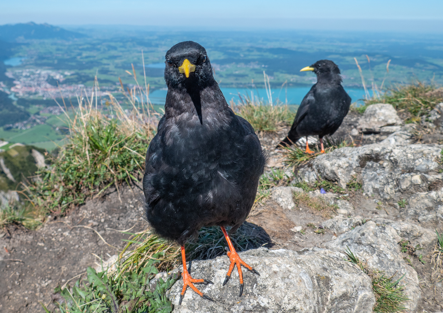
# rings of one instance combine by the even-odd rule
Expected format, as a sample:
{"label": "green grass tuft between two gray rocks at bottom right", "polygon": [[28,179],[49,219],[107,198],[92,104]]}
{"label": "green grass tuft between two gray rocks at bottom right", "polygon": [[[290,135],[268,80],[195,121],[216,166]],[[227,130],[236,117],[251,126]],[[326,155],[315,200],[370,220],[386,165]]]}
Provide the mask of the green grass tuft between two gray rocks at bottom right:
{"label": "green grass tuft between two gray rocks at bottom right", "polygon": [[357,264],[371,278],[372,290],[376,300],[373,307],[374,312],[396,313],[403,312],[406,309],[403,303],[409,299],[404,294],[404,286],[399,284],[404,275],[397,280],[393,280],[393,277],[386,277],[382,271],[369,269],[349,247],[347,247],[345,254],[348,256],[349,262]]}

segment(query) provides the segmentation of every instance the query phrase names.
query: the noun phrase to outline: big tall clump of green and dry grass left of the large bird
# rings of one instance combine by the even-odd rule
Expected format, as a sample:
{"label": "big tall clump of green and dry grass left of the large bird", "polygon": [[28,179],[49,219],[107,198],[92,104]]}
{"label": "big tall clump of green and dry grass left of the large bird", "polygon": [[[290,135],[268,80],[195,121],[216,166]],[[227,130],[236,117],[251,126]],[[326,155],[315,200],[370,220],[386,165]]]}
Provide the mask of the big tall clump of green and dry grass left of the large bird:
{"label": "big tall clump of green and dry grass left of the large bird", "polygon": [[117,101],[112,103],[118,119],[79,105],[77,115],[69,119],[68,143],[52,159],[51,169],[39,173],[42,180],[27,187],[34,205],[63,212],[111,185],[118,190],[122,182],[143,176],[154,128],[140,114],[133,112],[130,119]]}

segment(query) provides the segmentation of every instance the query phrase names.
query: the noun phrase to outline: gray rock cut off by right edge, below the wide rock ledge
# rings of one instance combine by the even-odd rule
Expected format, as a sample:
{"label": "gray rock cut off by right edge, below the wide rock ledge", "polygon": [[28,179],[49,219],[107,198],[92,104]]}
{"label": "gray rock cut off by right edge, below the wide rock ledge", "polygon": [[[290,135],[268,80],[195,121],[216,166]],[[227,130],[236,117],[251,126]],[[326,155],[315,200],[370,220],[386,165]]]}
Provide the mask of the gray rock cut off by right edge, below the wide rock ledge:
{"label": "gray rock cut off by right edge, below the wide rock ledge", "polygon": [[419,222],[443,219],[443,189],[414,193],[409,197],[408,205],[400,208],[400,215]]}

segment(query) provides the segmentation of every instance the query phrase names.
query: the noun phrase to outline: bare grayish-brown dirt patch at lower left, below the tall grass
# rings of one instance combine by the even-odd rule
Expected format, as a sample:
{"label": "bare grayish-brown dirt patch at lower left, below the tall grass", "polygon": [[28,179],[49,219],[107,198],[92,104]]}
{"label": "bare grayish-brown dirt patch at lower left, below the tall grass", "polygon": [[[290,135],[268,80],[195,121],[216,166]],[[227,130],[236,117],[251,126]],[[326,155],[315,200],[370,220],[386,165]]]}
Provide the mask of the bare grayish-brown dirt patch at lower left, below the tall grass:
{"label": "bare grayish-brown dirt patch at lower left, below the tall grass", "polygon": [[117,192],[110,191],[68,216],[51,217],[37,231],[5,229],[0,238],[0,312],[43,312],[39,302],[54,309],[51,294],[58,284],[94,267],[93,254],[107,259],[121,251],[128,235],[111,229],[138,232],[147,225],[139,190],[122,188],[121,203]]}

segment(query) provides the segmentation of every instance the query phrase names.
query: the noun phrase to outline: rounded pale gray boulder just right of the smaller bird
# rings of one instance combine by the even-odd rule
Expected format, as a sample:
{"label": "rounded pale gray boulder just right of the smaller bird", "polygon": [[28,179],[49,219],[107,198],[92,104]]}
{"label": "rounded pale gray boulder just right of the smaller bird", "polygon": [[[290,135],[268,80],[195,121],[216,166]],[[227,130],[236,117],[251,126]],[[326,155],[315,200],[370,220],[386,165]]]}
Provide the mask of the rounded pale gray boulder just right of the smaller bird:
{"label": "rounded pale gray boulder just right of the smaller bird", "polygon": [[401,125],[400,117],[392,104],[369,105],[358,121],[357,128],[363,133],[380,133],[382,127]]}

